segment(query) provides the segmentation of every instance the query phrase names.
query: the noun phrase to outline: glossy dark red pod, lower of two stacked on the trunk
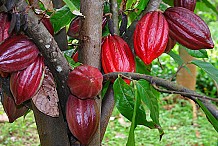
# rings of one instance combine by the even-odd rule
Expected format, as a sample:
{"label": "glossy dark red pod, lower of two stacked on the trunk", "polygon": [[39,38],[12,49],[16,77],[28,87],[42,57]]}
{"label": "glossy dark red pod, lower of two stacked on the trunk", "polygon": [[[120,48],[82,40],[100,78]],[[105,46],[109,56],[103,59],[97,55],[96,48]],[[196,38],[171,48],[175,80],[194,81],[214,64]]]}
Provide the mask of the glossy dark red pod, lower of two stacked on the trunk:
{"label": "glossy dark red pod, lower of two stacked on the trunk", "polygon": [[95,100],[81,100],[70,95],[66,104],[66,118],[71,133],[82,145],[88,145],[99,125]]}

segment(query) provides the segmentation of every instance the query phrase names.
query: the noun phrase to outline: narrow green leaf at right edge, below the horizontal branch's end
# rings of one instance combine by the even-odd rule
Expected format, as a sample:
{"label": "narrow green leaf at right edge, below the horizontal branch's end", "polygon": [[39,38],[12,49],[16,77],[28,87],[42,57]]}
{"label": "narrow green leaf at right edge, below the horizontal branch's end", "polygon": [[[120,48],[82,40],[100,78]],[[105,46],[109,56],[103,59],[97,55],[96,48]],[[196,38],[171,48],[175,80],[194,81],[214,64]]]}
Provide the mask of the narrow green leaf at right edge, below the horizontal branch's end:
{"label": "narrow green leaf at right edge, below the horizontal branch's end", "polygon": [[208,120],[213,125],[214,129],[218,132],[218,120],[210,113],[210,111],[204,106],[204,104],[200,100],[196,100],[200,105],[201,109],[206,114]]}

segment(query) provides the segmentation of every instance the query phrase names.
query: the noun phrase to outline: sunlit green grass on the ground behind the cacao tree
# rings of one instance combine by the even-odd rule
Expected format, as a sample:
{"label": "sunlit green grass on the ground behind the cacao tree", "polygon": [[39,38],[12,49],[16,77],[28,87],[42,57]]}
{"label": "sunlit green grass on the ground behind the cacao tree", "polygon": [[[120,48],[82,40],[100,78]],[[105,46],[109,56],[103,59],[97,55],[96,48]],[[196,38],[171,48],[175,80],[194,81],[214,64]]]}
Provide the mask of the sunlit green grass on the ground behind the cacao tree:
{"label": "sunlit green grass on the ground behind the cacao tree", "polygon": [[[168,104],[169,105],[169,104]],[[198,110],[198,126],[192,125],[192,107],[188,101],[180,100],[173,108],[161,101],[160,123],[164,136],[159,141],[157,130],[138,126],[135,130],[136,146],[218,146],[218,133]],[[0,105],[0,114],[3,113]],[[39,138],[33,113],[19,118],[14,123],[0,123],[0,146],[38,146]],[[102,146],[124,146],[127,141],[130,122],[122,118],[115,108],[108,125]],[[196,137],[196,131],[200,133]]]}

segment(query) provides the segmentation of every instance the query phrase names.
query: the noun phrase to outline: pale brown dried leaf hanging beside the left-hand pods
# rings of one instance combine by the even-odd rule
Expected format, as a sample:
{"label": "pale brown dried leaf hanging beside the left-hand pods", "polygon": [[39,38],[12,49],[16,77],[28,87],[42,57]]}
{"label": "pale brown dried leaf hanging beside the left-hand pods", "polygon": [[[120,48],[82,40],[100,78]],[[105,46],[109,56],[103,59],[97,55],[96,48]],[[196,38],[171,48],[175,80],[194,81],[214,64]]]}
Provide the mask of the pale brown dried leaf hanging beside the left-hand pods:
{"label": "pale brown dried leaf hanging beside the left-hand pods", "polygon": [[59,99],[56,85],[51,72],[47,68],[45,70],[45,77],[42,86],[36,95],[33,96],[32,100],[37,109],[42,113],[51,117],[59,116]]}

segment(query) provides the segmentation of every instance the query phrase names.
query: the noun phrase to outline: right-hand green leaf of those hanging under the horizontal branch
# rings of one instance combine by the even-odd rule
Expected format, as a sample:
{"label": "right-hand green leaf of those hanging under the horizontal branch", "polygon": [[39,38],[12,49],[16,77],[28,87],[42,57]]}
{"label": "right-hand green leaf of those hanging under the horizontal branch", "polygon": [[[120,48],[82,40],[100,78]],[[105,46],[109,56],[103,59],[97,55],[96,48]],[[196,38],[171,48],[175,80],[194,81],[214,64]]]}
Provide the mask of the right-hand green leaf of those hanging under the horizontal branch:
{"label": "right-hand green leaf of those hanging under the horizontal branch", "polygon": [[138,94],[142,102],[149,108],[150,117],[160,126],[159,122],[159,92],[157,92],[146,80],[139,80],[136,84]]}

